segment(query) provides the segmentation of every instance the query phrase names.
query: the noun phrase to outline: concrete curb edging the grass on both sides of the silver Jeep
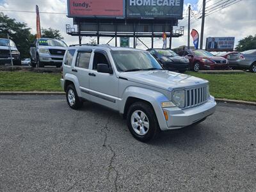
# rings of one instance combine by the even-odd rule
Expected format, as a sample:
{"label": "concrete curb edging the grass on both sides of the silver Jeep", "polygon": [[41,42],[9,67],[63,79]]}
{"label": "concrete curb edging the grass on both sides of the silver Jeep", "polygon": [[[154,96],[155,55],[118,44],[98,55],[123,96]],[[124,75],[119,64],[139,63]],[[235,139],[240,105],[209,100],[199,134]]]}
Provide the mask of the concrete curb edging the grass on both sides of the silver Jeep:
{"label": "concrete curb edging the grass on both sides of the silver Jeep", "polygon": [[[65,92],[0,92],[0,95],[65,95]],[[217,99],[217,102],[228,102],[234,104],[244,104],[250,106],[256,106],[256,102],[250,102],[245,100],[231,100],[231,99]]]}

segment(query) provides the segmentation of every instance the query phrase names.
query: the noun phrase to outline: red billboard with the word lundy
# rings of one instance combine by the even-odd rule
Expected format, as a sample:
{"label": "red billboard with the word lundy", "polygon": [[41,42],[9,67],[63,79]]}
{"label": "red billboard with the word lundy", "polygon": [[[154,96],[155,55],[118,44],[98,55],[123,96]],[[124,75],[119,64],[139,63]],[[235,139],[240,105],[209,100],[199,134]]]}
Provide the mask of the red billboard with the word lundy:
{"label": "red billboard with the word lundy", "polygon": [[67,0],[68,17],[124,17],[124,0]]}

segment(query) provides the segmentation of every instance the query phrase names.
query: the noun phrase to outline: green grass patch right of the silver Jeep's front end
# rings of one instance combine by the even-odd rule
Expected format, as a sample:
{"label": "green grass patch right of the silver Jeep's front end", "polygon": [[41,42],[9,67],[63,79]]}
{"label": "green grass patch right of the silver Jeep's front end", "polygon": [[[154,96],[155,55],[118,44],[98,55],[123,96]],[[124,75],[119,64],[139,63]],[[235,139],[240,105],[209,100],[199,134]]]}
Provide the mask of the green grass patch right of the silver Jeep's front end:
{"label": "green grass patch right of the silver Jeep's front end", "polygon": [[256,102],[256,74],[200,74],[186,72],[191,76],[207,79],[210,92],[216,98]]}

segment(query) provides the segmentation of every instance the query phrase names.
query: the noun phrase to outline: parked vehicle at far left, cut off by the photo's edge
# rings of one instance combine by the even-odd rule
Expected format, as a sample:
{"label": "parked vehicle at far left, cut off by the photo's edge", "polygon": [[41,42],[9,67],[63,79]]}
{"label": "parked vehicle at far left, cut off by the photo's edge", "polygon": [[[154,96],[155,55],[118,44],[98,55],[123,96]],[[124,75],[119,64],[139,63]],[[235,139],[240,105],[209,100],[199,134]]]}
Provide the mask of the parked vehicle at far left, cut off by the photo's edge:
{"label": "parked vehicle at far left, cut off by the photo's edge", "polygon": [[18,51],[15,43],[7,38],[0,38],[0,65],[12,64],[10,49],[12,52],[13,65],[21,65],[20,52]]}

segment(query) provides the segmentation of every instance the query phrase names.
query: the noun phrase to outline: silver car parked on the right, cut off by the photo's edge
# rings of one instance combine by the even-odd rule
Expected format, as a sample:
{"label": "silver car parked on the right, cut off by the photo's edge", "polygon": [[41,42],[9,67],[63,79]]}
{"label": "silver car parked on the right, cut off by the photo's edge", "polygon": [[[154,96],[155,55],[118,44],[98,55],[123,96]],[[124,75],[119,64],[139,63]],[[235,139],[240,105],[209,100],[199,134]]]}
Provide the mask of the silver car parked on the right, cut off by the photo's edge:
{"label": "silver car parked on the right, cut off by the photo's edge", "polygon": [[230,54],[228,61],[230,67],[250,69],[251,72],[256,72],[256,49]]}

